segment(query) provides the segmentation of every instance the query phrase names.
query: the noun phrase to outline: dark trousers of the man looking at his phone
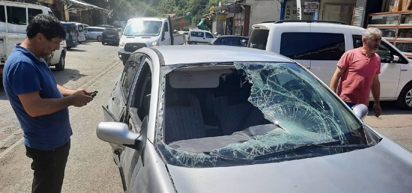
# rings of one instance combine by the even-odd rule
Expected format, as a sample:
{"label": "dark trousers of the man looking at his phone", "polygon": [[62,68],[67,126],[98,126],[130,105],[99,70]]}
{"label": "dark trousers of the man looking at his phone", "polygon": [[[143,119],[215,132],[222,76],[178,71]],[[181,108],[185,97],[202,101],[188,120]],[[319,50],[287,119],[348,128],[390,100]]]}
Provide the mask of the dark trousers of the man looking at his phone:
{"label": "dark trousers of the man looking at his phone", "polygon": [[32,192],[61,192],[70,141],[62,147],[41,151],[26,146],[26,156],[33,159]]}

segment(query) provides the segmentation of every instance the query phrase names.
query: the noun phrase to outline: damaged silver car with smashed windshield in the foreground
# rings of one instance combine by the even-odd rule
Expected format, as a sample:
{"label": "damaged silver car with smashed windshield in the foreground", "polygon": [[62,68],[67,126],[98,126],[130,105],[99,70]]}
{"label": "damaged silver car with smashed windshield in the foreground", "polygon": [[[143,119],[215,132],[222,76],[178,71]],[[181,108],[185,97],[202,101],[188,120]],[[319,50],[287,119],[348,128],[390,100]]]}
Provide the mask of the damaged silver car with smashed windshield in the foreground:
{"label": "damaged silver car with smashed windshield in the foreground", "polygon": [[357,107],[356,116],[274,53],[144,47],[126,62],[97,136],[111,144],[125,192],[410,192],[411,152]]}

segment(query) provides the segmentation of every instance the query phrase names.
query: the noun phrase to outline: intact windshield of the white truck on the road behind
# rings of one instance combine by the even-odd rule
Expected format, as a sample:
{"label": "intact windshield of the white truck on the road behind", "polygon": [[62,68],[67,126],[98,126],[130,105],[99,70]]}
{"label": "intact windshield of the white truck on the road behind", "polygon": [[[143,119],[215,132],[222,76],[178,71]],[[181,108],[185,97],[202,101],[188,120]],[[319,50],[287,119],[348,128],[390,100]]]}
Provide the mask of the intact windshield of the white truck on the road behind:
{"label": "intact windshield of the white truck on the road behind", "polygon": [[144,21],[140,19],[127,22],[125,36],[157,36],[160,33],[162,21]]}

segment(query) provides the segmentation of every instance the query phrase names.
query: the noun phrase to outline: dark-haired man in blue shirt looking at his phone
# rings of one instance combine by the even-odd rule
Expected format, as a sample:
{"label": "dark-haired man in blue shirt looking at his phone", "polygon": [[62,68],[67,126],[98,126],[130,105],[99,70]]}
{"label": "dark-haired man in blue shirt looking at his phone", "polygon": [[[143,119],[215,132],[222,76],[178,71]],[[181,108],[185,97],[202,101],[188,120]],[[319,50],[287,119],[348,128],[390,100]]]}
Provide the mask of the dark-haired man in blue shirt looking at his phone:
{"label": "dark-haired man in blue shirt looking at his phone", "polygon": [[67,107],[82,107],[93,98],[86,89],[57,85],[42,59],[59,50],[66,36],[60,21],[40,14],[26,31],[6,61],[4,89],[24,133],[26,155],[33,159],[32,192],[60,192],[72,135]]}

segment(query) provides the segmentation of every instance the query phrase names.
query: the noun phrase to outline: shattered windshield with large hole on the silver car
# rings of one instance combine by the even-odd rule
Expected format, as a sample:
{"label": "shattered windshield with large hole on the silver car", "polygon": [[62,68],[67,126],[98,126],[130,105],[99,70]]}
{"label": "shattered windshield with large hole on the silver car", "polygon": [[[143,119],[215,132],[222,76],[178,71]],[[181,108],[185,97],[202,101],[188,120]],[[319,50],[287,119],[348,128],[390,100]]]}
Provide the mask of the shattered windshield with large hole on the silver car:
{"label": "shattered windshield with large hole on the silver car", "polygon": [[367,148],[362,124],[294,63],[164,66],[157,147],[169,164],[215,167]]}

